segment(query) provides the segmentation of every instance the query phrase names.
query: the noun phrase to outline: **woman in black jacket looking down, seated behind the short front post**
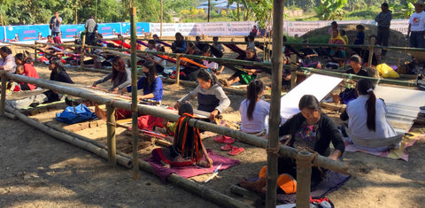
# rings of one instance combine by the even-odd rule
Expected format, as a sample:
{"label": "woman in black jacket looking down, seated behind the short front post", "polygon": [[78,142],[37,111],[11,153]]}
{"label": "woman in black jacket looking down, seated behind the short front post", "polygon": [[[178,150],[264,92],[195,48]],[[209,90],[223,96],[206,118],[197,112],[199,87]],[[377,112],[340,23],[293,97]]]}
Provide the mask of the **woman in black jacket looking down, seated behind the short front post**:
{"label": "woman in black jacket looking down, seated behind the short front post", "polygon": [[[321,105],[316,97],[312,95],[302,96],[298,108],[301,112],[288,119],[279,129],[279,136],[289,135],[288,145],[298,150],[310,150],[319,153],[321,156],[334,160],[340,158],[345,150],[344,140],[336,127],[335,122],[325,113],[321,112]],[[286,141],[281,141],[284,143]],[[329,144],[335,147],[330,151]],[[266,171],[264,166],[259,173],[259,180],[254,182],[242,181],[241,186],[245,189],[255,191],[266,190]],[[286,194],[297,191],[297,165],[290,158],[279,158],[277,180],[278,187]],[[317,185],[323,178],[326,170],[319,170],[313,167],[312,187]]]}

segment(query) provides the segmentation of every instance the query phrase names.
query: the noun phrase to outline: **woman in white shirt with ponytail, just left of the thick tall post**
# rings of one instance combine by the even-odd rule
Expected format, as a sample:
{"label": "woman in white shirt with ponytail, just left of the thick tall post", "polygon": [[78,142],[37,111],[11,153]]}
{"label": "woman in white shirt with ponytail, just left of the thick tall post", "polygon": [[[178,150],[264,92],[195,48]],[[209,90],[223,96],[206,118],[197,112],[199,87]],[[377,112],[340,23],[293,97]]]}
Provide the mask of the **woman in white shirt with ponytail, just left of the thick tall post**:
{"label": "woman in white shirt with ponytail, just left of the thick tall post", "polygon": [[270,112],[270,104],[261,99],[263,87],[260,80],[250,82],[246,99],[239,107],[239,113],[241,113],[241,131],[267,138],[266,117]]}

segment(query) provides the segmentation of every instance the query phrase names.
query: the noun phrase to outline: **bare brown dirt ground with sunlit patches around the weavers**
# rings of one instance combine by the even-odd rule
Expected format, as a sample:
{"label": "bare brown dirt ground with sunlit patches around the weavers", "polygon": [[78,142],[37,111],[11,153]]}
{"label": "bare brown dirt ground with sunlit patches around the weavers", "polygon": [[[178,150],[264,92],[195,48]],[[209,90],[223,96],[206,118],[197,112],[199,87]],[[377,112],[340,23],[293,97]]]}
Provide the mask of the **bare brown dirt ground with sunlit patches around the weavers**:
{"label": "bare brown dirt ground with sunlit patches around the weavers", "polygon": [[[13,47],[12,50],[16,53],[22,49]],[[38,63],[36,69],[42,79],[49,79],[50,72],[46,65]],[[105,75],[72,68],[67,71],[74,82],[86,86]],[[227,77],[231,73],[226,69],[220,77]],[[261,79],[270,81],[267,75]],[[104,88],[108,86],[109,83],[99,85]],[[189,90],[191,88],[165,84],[163,104],[173,105]],[[26,95],[15,93],[7,98],[22,96]],[[223,117],[231,122],[239,121],[237,110],[244,97],[235,94],[228,96],[232,104]],[[61,111],[44,112],[31,118],[57,123],[54,116]],[[337,123],[340,122],[337,112],[325,112]],[[218,207],[149,173],[141,172],[140,180],[134,181],[132,170],[109,166],[105,159],[44,135],[22,121],[1,118],[0,125],[3,129],[3,142],[0,143],[0,162],[3,165],[0,174],[1,207]],[[124,130],[117,129],[117,146],[120,150],[128,147],[131,140]],[[105,143],[106,126],[87,128],[77,134]],[[230,157],[226,151],[220,150],[221,145],[215,143],[213,137],[206,138],[204,143],[207,148]],[[148,157],[151,150],[158,147],[144,145],[139,150],[141,158]],[[265,150],[246,143],[236,142],[235,145],[245,149],[232,157],[240,160],[240,165],[220,171],[219,176],[205,186],[250,203],[248,199],[230,193],[229,187],[243,177],[256,175],[260,167],[267,164],[267,154]],[[407,149],[409,162],[345,152],[344,162],[349,164],[352,178],[328,198],[336,207],[421,207],[425,204],[424,148],[425,141],[421,140]],[[200,183],[209,176],[205,174],[190,180]]]}

